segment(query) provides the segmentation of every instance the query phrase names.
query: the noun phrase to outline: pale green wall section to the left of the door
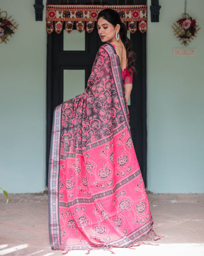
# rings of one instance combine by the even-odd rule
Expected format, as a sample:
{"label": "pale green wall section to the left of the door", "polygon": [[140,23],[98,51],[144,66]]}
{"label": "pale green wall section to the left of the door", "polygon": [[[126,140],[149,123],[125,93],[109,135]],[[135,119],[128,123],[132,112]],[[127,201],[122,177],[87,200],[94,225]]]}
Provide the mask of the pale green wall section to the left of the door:
{"label": "pale green wall section to the left of the door", "polygon": [[34,3],[0,3],[18,24],[7,44],[0,45],[0,187],[9,193],[45,189],[45,8],[43,22],[36,22]]}

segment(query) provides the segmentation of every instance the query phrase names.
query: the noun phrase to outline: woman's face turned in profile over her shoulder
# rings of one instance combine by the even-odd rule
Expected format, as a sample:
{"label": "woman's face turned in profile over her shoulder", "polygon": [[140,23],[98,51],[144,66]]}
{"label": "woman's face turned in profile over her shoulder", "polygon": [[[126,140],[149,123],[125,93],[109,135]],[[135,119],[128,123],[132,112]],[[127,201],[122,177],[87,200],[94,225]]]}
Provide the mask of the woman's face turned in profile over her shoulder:
{"label": "woman's face turned in profile over her shoulder", "polygon": [[111,23],[109,23],[104,18],[99,18],[97,23],[98,34],[100,36],[101,41],[103,42],[111,42],[115,38],[115,32],[119,31],[118,24],[114,27]]}

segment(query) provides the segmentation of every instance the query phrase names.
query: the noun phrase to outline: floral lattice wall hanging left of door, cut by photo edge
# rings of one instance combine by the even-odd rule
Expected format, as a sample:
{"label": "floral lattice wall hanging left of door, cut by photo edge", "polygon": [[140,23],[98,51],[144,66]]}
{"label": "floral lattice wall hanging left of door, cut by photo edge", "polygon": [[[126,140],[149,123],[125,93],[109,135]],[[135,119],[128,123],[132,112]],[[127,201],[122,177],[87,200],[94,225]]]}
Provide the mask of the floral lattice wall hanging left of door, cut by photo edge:
{"label": "floral lattice wall hanging left of door, cut by photo edge", "polygon": [[[14,22],[14,19],[10,20],[12,16],[7,18],[7,12],[1,11],[0,9],[0,38],[2,39],[2,42],[5,42],[7,44],[7,41],[9,41],[8,36],[12,36],[14,34],[14,29],[17,29],[18,24]],[[7,41],[6,41],[7,40]]]}

